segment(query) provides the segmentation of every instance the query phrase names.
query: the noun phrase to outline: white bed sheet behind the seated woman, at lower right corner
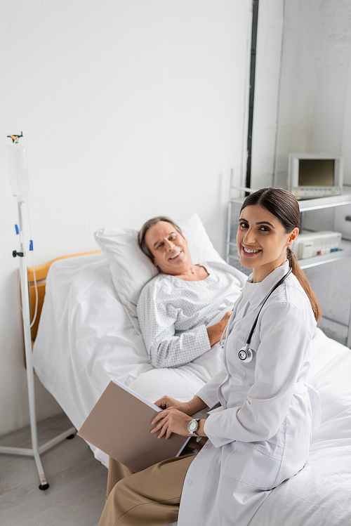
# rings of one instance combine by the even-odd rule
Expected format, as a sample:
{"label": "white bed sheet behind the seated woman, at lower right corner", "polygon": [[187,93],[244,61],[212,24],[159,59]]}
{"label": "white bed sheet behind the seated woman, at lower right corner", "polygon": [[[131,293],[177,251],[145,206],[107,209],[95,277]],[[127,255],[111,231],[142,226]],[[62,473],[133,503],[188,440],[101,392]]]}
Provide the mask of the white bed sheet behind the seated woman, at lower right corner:
{"label": "white bed sheet behind the seated woman, at lower right corner", "polygon": [[351,525],[351,350],[318,329],[313,351],[308,381],[321,425],[303,470],[271,492],[250,526]]}

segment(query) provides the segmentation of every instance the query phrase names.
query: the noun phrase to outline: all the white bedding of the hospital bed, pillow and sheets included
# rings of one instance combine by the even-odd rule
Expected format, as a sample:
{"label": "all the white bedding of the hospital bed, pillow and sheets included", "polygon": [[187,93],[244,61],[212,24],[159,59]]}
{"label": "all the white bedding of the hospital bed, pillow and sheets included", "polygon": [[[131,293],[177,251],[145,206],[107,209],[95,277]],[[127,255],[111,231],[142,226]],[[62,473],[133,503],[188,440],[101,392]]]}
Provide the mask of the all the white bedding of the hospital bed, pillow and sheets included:
{"label": "all the white bedding of the hospital bed, pillow and sheets included", "polygon": [[[194,263],[223,261],[198,216],[178,223]],[[135,230],[102,229],[95,239],[102,252],[51,265],[34,343],[37,376],[77,429],[112,379],[151,401],[164,394],[188,400],[222,359],[217,344],[183,367],[154,369],[136,303],[157,268],[138,248]],[[321,396],[321,425],[303,471],[271,492],[250,526],[351,524],[351,351],[320,329],[312,347],[308,381]],[[107,466],[107,456],[90,447]]]}

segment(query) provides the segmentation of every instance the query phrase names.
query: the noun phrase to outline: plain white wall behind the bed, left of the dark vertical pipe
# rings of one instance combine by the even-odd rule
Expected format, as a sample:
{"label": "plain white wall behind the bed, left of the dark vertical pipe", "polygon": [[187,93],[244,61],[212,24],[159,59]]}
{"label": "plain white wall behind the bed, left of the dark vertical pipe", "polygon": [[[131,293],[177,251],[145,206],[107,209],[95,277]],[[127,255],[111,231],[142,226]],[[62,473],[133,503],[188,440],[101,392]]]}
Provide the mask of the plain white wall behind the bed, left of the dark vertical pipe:
{"label": "plain white wall behind the bed, left of the dark vertical pipe", "polygon": [[[250,0],[3,0],[1,140],[28,131],[34,264],[197,212],[223,253],[242,176]],[[1,169],[0,434],[28,423],[16,209]],[[30,263],[30,262],[29,262]],[[37,382],[42,419],[60,411]]]}

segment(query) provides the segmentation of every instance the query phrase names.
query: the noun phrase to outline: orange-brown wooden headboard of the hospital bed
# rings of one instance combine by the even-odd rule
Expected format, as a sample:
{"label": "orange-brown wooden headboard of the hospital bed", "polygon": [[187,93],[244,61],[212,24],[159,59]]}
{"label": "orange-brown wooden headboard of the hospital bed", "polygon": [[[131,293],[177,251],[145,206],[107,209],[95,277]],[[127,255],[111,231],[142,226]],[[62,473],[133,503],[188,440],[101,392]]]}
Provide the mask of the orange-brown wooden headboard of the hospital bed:
{"label": "orange-brown wooden headboard of the hospital bed", "polygon": [[27,269],[31,320],[33,320],[34,312],[35,312],[34,271],[35,271],[35,277],[36,277],[36,280],[37,280],[37,290],[38,290],[37,318],[36,318],[36,320],[34,322],[34,325],[32,327],[32,346],[33,346],[35,338],[37,337],[37,331],[38,331],[38,325],[39,325],[39,320],[40,320],[40,315],[41,315],[41,309],[43,308],[43,303],[44,303],[46,276],[48,275],[48,270],[51,267],[51,264],[54,261],[58,261],[59,259],[74,258],[74,257],[77,257],[77,256],[87,256],[88,254],[99,254],[101,252],[102,252],[102,250],[95,250],[93,252],[84,252],[82,254],[71,254],[70,256],[61,256],[60,258],[53,259],[53,261],[49,261],[49,263],[46,263],[45,265],[41,265],[39,267],[34,267],[34,269],[33,268],[28,268]]}

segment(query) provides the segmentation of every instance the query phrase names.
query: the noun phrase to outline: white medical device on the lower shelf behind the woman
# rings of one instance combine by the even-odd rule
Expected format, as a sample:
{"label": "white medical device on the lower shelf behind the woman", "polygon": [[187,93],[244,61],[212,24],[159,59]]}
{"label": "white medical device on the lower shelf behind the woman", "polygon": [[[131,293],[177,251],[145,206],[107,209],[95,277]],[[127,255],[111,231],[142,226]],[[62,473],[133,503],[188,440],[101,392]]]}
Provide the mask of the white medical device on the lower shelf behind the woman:
{"label": "white medical device on the lower shelf behind the woman", "polygon": [[305,259],[336,252],[340,249],[340,242],[340,232],[309,232],[299,234],[291,249],[298,259]]}

